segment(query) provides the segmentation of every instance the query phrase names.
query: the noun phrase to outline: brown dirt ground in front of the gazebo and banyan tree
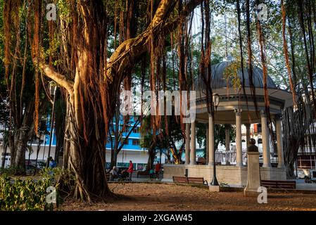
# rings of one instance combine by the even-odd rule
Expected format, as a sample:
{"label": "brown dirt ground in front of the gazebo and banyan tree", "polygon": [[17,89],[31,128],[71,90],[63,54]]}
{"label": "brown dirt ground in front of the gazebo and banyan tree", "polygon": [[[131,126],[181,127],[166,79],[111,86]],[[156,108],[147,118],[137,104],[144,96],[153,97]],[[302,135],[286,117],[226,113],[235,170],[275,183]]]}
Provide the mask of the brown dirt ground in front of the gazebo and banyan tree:
{"label": "brown dirt ground in front of the gazebo and banyan tree", "polygon": [[[210,193],[207,188],[175,184],[109,184],[125,195],[108,203],[63,203],[61,210],[314,210],[316,194],[268,193],[267,204],[243,192]],[[126,198],[127,197],[127,198]]]}

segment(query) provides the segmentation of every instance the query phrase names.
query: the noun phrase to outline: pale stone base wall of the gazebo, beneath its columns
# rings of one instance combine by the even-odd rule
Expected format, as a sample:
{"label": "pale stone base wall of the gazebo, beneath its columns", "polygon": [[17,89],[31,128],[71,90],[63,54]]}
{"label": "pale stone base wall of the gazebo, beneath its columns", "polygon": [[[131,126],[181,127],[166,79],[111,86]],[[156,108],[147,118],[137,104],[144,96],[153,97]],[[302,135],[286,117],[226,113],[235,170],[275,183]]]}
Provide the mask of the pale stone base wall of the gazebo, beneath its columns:
{"label": "pale stone base wall of the gazebo, beneath its columns", "polygon": [[[187,170],[187,172],[186,172]],[[190,177],[203,177],[208,181],[208,184],[213,179],[213,166],[209,165],[163,165],[163,179],[172,179],[172,176],[184,176],[187,174]],[[219,184],[222,186],[231,187],[246,187],[248,180],[247,167],[236,167],[217,165],[216,177]],[[286,180],[285,168],[269,168],[260,167],[261,180]]]}

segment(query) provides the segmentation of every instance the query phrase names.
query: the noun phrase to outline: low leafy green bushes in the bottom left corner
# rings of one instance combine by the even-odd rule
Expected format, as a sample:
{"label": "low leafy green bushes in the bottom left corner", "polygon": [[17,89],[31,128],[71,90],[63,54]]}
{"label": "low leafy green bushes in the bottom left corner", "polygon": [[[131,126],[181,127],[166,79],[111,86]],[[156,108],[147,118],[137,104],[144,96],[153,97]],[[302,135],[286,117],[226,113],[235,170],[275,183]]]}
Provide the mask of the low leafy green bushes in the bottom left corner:
{"label": "low leafy green bushes in the bottom left corner", "polygon": [[74,176],[68,169],[59,167],[54,169],[43,169],[41,179],[11,179],[9,167],[0,176],[0,210],[53,210],[53,203],[46,202],[47,188],[56,188],[56,203],[61,202],[58,190],[63,181],[63,186],[70,186],[74,181]]}

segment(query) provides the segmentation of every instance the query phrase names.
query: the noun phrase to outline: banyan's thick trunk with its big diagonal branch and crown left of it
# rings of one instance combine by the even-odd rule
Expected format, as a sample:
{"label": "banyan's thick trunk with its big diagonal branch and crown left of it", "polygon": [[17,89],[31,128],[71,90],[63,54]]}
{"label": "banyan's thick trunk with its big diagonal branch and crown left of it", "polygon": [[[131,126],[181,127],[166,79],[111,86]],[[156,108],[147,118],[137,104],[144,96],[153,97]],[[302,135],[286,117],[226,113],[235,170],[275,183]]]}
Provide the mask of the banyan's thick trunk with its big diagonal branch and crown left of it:
{"label": "banyan's thick trunk with its big diagonal branch and crown left of it", "polygon": [[[130,71],[145,53],[150,51],[151,59],[163,54],[158,46],[163,49],[165,37],[202,1],[123,2],[56,1],[54,21],[47,20],[49,1],[5,1],[5,20],[23,4],[30,9],[26,29],[34,67],[61,86],[67,96],[64,166],[75,172],[75,197],[87,201],[110,194],[105,172],[106,131],[121,83],[129,83]],[[141,20],[141,25],[135,27],[135,20]],[[108,37],[114,33],[116,41],[113,29],[118,30],[117,25],[122,33],[108,56]],[[36,106],[34,115],[38,109]]]}

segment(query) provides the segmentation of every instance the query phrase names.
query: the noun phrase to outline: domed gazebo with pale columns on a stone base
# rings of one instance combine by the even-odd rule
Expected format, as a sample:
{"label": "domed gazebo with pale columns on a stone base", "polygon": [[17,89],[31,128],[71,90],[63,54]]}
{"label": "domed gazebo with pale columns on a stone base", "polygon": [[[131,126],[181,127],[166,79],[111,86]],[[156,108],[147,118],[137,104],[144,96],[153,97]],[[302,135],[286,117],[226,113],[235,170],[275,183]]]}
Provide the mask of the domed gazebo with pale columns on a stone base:
{"label": "domed gazebo with pale columns on a stone base", "polygon": [[[270,101],[270,118],[274,123],[277,134],[277,167],[271,166],[270,131],[267,112],[265,110],[263,70],[253,67],[253,85],[255,99],[248,79],[248,70],[244,69],[244,89],[241,69],[234,67],[236,63],[222,62],[211,68],[211,87],[217,96],[217,107],[214,117],[208,113],[206,88],[201,78],[195,79],[196,91],[196,120],[186,124],[187,141],[185,145],[184,165],[164,165],[164,179],[172,176],[198,176],[208,182],[213,179],[214,159],[214,124],[225,124],[225,146],[229,149],[229,125],[236,125],[236,165],[216,165],[217,180],[233,186],[245,186],[247,182],[247,167],[244,165],[241,147],[241,124],[246,126],[246,143],[250,139],[251,124],[262,126],[263,167],[260,168],[261,179],[284,180],[286,170],[283,159],[282,141],[282,109],[293,105],[291,93],[277,88],[271,77],[267,76],[267,92]],[[237,85],[237,88],[236,88]],[[256,104],[255,104],[255,101]],[[196,165],[196,122],[208,124],[207,129],[207,165]]]}

